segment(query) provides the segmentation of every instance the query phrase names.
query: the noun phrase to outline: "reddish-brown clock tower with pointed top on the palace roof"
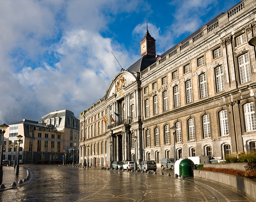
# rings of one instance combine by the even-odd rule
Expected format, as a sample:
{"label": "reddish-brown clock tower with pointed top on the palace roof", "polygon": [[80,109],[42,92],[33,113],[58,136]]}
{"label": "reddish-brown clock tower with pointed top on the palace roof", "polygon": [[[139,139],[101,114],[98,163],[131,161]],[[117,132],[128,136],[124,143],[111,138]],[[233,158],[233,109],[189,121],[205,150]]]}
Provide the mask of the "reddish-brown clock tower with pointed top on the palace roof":
{"label": "reddish-brown clock tower with pointed top on the palace roof", "polygon": [[141,57],[144,55],[156,56],[156,40],[149,34],[148,25],[144,39],[140,42]]}

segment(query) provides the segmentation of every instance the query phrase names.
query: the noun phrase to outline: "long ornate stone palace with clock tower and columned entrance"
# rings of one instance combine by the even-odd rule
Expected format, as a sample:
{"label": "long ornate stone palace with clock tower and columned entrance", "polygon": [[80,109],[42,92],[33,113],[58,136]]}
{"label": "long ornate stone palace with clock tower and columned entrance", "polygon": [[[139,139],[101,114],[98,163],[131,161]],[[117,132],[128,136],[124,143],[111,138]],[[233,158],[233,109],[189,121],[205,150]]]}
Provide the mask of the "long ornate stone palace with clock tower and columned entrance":
{"label": "long ornate stone palace with clock tower and columned entrance", "polygon": [[80,113],[79,162],[158,163],[173,141],[177,159],[255,151],[255,22],[256,2],[241,1],[162,55],[147,29],[141,58]]}

